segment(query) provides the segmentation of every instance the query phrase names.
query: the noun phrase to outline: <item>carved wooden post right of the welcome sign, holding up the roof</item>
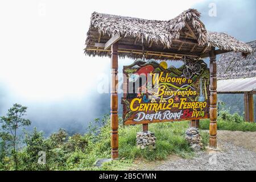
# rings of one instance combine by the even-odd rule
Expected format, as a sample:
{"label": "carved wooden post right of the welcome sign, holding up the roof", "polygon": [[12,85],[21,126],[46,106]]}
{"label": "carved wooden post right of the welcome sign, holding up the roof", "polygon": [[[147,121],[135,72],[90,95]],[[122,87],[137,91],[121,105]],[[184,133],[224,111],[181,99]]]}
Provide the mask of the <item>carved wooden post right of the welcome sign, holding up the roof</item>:
{"label": "carved wooden post right of the welcome sign, holding up the roof", "polygon": [[217,64],[214,49],[210,51],[210,126],[209,147],[217,147]]}

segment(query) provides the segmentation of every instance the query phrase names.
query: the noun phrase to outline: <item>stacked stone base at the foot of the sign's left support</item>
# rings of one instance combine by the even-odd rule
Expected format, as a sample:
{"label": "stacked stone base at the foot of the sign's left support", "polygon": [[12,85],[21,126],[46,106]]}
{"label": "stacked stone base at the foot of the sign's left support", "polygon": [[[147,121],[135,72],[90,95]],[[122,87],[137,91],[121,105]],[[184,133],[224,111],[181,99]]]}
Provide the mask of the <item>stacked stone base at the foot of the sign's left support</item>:
{"label": "stacked stone base at the foot of the sign's left support", "polygon": [[149,150],[155,149],[155,141],[156,137],[155,134],[147,131],[146,133],[144,132],[138,132],[136,136],[136,144],[138,149],[146,149],[148,148]]}

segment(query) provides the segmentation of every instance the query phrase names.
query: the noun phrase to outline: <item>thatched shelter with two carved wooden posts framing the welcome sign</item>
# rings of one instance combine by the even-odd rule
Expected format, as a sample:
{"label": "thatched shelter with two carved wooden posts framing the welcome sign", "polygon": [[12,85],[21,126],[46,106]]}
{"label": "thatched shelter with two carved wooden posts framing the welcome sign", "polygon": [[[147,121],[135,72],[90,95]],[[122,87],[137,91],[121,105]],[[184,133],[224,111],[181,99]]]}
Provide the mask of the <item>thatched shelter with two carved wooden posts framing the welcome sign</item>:
{"label": "thatched shelter with two carved wooden posts framing the welcome sign", "polygon": [[[225,33],[209,32],[200,13],[189,9],[170,20],[147,20],[94,12],[85,42],[85,54],[111,57],[110,103],[112,158],[118,158],[118,57],[181,60],[210,57],[209,146],[217,147],[217,65],[216,55],[252,49]],[[146,128],[147,129],[147,128]]]}

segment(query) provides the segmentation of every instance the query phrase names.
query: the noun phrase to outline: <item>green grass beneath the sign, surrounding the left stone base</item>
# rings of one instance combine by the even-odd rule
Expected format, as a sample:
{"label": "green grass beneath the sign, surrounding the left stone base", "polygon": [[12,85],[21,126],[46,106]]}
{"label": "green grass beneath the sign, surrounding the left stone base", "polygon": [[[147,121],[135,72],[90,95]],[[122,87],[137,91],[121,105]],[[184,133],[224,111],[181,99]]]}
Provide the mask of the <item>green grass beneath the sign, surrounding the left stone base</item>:
{"label": "green grass beneath the sign, surrounding the left stone base", "polygon": [[[189,127],[189,122],[174,122],[174,123],[152,123],[149,125],[149,130],[155,133],[156,136],[156,149],[155,150],[139,150],[136,147],[136,135],[141,131],[141,125],[136,126],[123,126],[119,127],[119,160],[114,160],[105,163],[101,168],[96,168],[90,165],[86,169],[101,169],[101,170],[122,170],[133,166],[135,159],[142,159],[147,161],[156,161],[167,159],[170,154],[177,154],[183,158],[191,158],[194,152],[189,147],[185,140],[185,130]],[[98,136],[96,147],[89,152],[89,155],[94,153],[96,159],[110,158],[110,153],[102,155],[101,149],[110,151],[110,138],[109,138],[110,125],[109,121],[101,128],[101,133]],[[104,136],[102,138],[102,136]],[[209,141],[209,134],[201,131],[202,142],[207,146]],[[100,148],[99,148],[100,147]],[[100,151],[100,152],[96,152]],[[103,150],[102,150],[103,151]]]}

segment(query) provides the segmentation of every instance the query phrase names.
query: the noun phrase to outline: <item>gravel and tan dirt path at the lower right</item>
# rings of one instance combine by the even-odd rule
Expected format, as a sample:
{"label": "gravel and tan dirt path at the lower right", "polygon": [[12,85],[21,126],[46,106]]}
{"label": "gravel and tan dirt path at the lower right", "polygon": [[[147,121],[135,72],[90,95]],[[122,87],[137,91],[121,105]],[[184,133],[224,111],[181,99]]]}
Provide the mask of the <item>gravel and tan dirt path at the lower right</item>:
{"label": "gravel and tan dirt path at the lower right", "polygon": [[218,131],[217,150],[196,153],[193,159],[170,155],[163,162],[136,164],[141,170],[256,170],[256,132]]}

